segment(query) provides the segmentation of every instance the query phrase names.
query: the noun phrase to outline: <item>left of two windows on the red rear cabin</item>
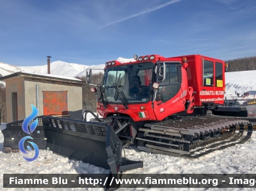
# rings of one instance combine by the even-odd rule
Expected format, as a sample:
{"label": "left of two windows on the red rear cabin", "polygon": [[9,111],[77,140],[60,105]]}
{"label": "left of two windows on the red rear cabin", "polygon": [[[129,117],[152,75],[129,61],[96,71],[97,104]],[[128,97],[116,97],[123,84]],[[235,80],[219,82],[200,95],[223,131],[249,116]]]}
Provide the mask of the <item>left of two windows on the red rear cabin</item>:
{"label": "left of two windows on the red rear cabin", "polygon": [[213,86],[213,62],[204,60],[203,86]]}

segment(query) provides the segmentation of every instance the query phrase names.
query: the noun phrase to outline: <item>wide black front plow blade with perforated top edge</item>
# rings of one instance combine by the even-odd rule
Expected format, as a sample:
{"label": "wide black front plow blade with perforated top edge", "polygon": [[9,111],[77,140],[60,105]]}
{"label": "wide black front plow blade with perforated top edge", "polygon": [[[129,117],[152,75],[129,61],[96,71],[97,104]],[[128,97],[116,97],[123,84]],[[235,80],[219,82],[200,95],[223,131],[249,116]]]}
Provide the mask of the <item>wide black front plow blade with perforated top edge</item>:
{"label": "wide black front plow blade with perforated top edge", "polygon": [[[6,125],[6,130],[2,131],[4,148],[19,149],[20,139],[28,135],[22,131],[22,122]],[[122,158],[122,142],[110,125],[39,116],[38,126],[30,136],[39,149],[49,149],[73,160],[111,169],[113,174],[143,167],[141,161]]]}

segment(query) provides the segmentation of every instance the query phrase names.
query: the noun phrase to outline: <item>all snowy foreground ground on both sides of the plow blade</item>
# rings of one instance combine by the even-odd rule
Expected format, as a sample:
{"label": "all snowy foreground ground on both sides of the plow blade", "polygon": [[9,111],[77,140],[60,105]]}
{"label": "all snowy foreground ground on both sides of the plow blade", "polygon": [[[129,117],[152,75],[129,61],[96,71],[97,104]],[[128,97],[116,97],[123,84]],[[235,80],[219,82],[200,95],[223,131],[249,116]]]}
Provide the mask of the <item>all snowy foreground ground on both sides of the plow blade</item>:
{"label": "all snowy foreground ground on both sides of the plow blade", "polygon": [[[4,125],[1,125],[4,128]],[[27,162],[22,158],[22,153],[3,153],[3,134],[0,134],[0,187],[3,188],[3,174],[12,173],[35,173],[35,174],[103,174],[109,173],[108,170],[94,165],[84,164],[68,160],[68,158],[55,155],[52,151],[41,150],[40,156],[33,162]],[[256,174],[256,134],[253,133],[250,141],[244,144],[214,151],[199,159],[186,159],[178,157],[170,157],[166,155],[157,155],[138,151],[138,149],[130,147],[125,148],[125,156],[131,160],[143,160],[142,169],[134,169],[126,171],[129,174]],[[123,153],[124,155],[124,153]],[[79,189],[79,188],[77,188]],[[93,188],[94,190],[95,188]],[[207,188],[207,190],[216,190],[217,188]],[[8,190],[18,190],[18,188],[8,188]],[[19,188],[19,190],[33,190],[31,188]],[[40,188],[37,188],[40,190]],[[44,188],[43,190],[51,190]],[[70,190],[70,188],[59,188],[59,190]],[[92,188],[88,188],[92,190]],[[96,189],[97,190],[97,189]],[[163,188],[129,188],[120,190],[163,190]],[[170,190],[170,189],[165,189]],[[183,189],[185,190],[185,189]],[[191,190],[198,190],[192,189]],[[206,190],[200,189],[200,190]],[[217,189],[218,190],[218,189]],[[231,190],[231,188],[230,188]],[[236,190],[232,188],[232,190]],[[238,190],[238,188],[237,188]],[[250,190],[250,188],[246,188]]]}

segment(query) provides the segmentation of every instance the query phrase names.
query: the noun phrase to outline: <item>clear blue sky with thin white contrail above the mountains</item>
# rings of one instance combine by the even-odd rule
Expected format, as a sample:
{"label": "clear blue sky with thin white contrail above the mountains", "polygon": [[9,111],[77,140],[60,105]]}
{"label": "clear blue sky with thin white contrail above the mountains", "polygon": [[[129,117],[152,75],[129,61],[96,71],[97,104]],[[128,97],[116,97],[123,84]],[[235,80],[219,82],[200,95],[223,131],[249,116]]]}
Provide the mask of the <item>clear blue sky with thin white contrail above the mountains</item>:
{"label": "clear blue sky with thin white contrail above the mountains", "polygon": [[99,65],[118,57],[256,56],[255,0],[0,0],[0,61]]}

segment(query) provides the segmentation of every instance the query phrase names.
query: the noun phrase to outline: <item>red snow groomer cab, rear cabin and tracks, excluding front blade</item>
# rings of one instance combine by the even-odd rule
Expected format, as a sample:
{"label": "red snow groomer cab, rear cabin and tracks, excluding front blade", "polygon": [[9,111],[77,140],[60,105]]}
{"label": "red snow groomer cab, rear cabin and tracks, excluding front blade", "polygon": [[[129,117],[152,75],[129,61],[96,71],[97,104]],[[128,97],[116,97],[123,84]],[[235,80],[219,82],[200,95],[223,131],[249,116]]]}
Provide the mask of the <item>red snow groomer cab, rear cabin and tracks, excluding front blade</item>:
{"label": "red snow groomer cab, rear cabin and tracks, excluding front blade", "polygon": [[[221,117],[247,116],[246,108],[223,107],[225,71],[227,63],[202,55],[135,55],[129,63],[109,61],[102,83],[91,89],[103,118],[91,121],[110,124],[122,142],[138,149],[173,156],[200,157],[215,149],[202,153],[215,141],[243,142],[252,125]],[[92,71],[87,75],[90,84]],[[246,139],[241,138],[244,125],[250,129]],[[193,155],[195,151],[199,154]]]}

